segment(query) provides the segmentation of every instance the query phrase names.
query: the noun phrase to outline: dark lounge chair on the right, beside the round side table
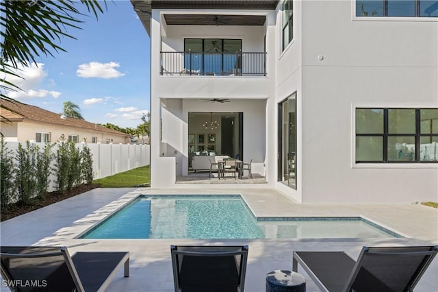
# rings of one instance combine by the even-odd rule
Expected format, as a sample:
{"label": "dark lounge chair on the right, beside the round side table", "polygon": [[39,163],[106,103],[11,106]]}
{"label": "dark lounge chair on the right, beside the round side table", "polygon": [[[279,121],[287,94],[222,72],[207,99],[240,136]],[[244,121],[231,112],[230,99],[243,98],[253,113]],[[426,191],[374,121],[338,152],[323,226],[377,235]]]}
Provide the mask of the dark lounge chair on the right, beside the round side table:
{"label": "dark lounge chair on the right, beside the round side table", "polygon": [[438,246],[363,247],[357,261],[344,252],[293,252],[321,291],[409,292],[438,252]]}

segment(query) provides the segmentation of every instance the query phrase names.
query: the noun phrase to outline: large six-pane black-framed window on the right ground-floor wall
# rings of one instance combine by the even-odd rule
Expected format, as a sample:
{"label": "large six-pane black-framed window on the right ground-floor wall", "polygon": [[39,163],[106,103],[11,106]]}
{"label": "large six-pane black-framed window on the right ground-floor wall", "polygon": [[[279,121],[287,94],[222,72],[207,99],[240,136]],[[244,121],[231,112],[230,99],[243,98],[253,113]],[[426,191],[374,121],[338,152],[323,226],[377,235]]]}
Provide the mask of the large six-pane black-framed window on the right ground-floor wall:
{"label": "large six-pane black-framed window on the right ground-floor wall", "polygon": [[357,108],[356,162],[438,162],[438,108]]}

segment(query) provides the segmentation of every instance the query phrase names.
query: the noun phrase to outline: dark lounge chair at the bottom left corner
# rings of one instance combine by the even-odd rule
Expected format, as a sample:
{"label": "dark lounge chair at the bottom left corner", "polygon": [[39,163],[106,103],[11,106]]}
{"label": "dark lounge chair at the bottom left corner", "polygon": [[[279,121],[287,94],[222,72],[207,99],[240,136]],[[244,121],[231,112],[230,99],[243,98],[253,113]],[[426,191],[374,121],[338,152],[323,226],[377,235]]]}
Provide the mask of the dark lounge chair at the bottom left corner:
{"label": "dark lounge chair at the bottom left corner", "polygon": [[66,247],[1,248],[1,276],[12,291],[105,291],[118,270],[129,277],[129,252],[77,252]]}

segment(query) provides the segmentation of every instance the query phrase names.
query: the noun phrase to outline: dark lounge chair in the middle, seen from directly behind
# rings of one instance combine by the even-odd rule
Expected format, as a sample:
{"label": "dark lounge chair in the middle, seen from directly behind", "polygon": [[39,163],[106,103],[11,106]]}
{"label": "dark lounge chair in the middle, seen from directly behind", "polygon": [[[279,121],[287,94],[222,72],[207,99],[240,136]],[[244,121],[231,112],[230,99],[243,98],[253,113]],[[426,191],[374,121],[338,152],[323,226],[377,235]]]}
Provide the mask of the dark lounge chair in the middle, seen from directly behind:
{"label": "dark lounge chair in the middle, seen from directly behind", "polygon": [[244,291],[248,245],[172,245],[170,254],[175,291]]}

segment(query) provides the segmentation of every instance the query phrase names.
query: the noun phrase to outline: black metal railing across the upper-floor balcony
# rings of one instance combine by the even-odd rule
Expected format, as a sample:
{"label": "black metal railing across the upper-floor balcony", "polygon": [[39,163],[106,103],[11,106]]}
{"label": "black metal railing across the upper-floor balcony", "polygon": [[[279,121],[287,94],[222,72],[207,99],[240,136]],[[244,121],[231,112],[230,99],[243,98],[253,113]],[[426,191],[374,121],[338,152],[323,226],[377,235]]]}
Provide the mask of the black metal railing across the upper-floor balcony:
{"label": "black metal railing across the upper-floor balcony", "polygon": [[160,75],[265,76],[266,53],[162,51]]}

